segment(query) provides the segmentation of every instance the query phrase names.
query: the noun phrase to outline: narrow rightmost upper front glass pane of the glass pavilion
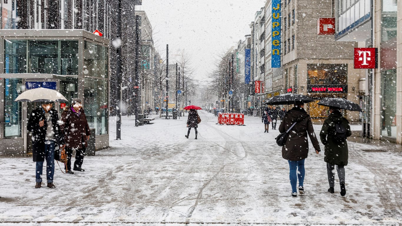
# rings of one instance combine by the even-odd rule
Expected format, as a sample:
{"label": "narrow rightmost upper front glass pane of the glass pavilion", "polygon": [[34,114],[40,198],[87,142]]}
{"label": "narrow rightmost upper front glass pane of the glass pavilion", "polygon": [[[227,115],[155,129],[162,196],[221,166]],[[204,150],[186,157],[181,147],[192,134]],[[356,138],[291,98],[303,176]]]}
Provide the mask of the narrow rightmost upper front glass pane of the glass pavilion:
{"label": "narrow rightmost upper front glass pane of the glass pavilion", "polygon": [[78,41],[61,41],[61,74],[78,75]]}

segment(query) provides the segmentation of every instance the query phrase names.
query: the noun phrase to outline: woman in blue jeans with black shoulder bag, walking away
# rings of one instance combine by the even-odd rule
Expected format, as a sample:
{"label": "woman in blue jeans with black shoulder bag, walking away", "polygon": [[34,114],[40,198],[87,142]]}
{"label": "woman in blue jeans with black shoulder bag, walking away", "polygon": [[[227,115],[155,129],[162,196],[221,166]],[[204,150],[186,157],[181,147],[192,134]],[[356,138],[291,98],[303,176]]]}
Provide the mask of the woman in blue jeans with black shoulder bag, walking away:
{"label": "woman in blue jeans with black shoulder bag, walking away", "polygon": [[282,146],[282,157],[289,163],[292,197],[297,197],[297,179],[299,180],[299,193],[304,194],[304,160],[308,156],[307,135],[310,137],[316,154],[321,151],[310,115],[306,113],[303,107],[303,102],[295,102],[295,107],[286,113],[284,120],[279,125],[279,132],[283,133],[296,122],[287,135],[285,145]]}

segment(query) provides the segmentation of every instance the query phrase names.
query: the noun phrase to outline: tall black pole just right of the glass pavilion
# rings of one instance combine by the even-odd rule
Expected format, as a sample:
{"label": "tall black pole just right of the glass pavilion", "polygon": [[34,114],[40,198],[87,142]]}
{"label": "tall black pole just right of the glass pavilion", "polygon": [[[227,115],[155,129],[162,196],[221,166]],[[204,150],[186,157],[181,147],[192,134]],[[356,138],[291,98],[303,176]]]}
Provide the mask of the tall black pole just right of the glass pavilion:
{"label": "tall black pole just right of the glass pavilion", "polygon": [[[121,0],[117,1],[117,34],[116,39],[121,37]],[[121,46],[121,45],[120,45]],[[116,140],[121,140],[121,47],[117,48],[116,60],[116,77],[117,77],[117,89],[116,89]]]}

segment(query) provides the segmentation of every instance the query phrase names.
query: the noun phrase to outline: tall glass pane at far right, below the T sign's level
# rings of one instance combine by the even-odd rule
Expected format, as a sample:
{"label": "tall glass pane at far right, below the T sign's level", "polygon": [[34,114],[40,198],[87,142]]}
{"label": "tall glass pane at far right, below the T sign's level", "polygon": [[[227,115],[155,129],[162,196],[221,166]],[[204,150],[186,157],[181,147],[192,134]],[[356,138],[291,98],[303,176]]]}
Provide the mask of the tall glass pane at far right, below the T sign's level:
{"label": "tall glass pane at far right, below the T sign's level", "polygon": [[381,72],[381,135],[396,137],[396,70]]}

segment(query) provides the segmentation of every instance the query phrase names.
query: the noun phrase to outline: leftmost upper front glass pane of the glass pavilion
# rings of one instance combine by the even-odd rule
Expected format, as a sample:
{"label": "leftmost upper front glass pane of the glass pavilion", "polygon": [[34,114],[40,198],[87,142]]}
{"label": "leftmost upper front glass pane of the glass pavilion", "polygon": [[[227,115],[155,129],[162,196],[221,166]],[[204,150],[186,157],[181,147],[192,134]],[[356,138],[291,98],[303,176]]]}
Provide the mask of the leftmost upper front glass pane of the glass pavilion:
{"label": "leftmost upper front glass pane of the glass pavilion", "polygon": [[27,41],[4,40],[5,73],[27,73]]}

